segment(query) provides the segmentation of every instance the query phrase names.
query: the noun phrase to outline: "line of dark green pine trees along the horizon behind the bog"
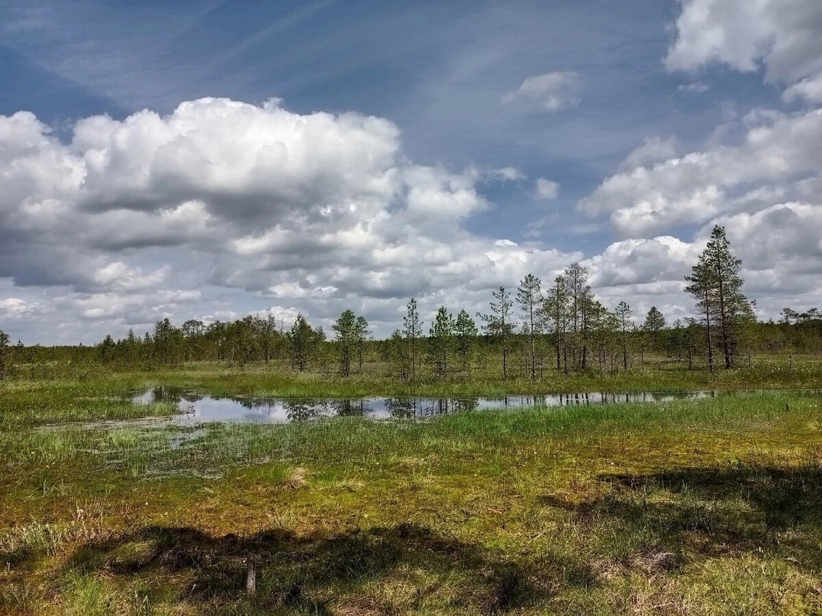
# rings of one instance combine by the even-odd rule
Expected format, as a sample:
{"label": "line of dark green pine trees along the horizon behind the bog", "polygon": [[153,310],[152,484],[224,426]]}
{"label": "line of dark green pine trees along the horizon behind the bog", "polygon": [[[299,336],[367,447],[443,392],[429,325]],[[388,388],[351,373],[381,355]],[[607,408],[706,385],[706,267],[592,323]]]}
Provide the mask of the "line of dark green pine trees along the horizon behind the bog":
{"label": "line of dark green pine trees along the horizon behind the bog", "polygon": [[[758,321],[755,305],[742,292],[741,261],[730,250],[724,228],[715,227],[705,250],[686,277],[694,306],[691,318],[668,323],[652,307],[635,315],[627,301],[608,310],[589,287],[588,269],[571,264],[550,286],[534,274],[515,290],[491,294],[487,313],[456,314],[441,306],[423,323],[417,302],[406,306],[390,338],[375,340],[367,319],[344,310],[326,333],[298,315],[290,329],[275,315],[181,326],[164,319],[153,333],[106,336],[94,347],[12,345],[0,330],[0,379],[52,375],[54,363],[89,363],[150,368],[186,361],[278,361],[293,370],[335,371],[349,376],[363,362],[390,365],[395,377],[413,381],[420,370],[446,378],[486,370],[498,361],[501,376],[540,379],[548,370],[629,370],[646,361],[677,362],[689,369],[729,370],[750,365],[758,353],[822,351],[822,312],[785,308],[778,322]],[[635,323],[639,316],[641,324]]]}

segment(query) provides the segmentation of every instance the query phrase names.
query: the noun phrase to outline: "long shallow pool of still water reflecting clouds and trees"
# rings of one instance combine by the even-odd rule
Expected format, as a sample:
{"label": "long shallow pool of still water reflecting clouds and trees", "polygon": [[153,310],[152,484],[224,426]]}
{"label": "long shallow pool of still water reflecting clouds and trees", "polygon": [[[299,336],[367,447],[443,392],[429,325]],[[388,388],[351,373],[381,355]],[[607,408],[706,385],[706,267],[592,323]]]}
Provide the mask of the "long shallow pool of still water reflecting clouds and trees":
{"label": "long shallow pool of still water reflecting clouds and trees", "polygon": [[181,423],[246,422],[279,424],[319,417],[363,416],[413,419],[458,411],[493,411],[522,407],[572,407],[616,402],[669,402],[709,398],[713,392],[569,393],[503,398],[243,398],[198,393],[178,387],[155,387],[124,393],[138,404],[171,402]]}

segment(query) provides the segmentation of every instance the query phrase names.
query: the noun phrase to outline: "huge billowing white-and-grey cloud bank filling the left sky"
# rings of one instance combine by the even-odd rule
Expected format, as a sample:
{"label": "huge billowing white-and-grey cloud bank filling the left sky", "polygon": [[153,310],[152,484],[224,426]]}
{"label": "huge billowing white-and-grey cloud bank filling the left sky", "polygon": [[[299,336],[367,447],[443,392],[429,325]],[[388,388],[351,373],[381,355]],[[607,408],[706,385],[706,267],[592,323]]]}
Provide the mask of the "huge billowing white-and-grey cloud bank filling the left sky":
{"label": "huge billowing white-and-grey cloud bank filling the left sky", "polygon": [[[418,165],[385,119],[277,101],[88,117],[65,141],[30,113],[0,117],[0,174],[0,283],[43,297],[64,337],[88,321],[122,333],[240,314],[238,297],[247,312],[302,309],[327,325],[353,304],[393,323],[412,295],[432,313],[474,306],[533,265],[581,256],[464,230],[491,207],[480,186],[519,170]],[[20,302],[4,318],[24,315]]]}

